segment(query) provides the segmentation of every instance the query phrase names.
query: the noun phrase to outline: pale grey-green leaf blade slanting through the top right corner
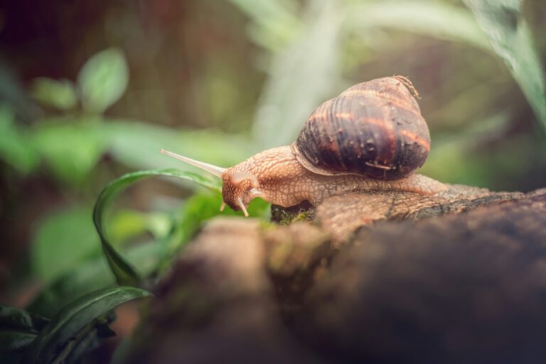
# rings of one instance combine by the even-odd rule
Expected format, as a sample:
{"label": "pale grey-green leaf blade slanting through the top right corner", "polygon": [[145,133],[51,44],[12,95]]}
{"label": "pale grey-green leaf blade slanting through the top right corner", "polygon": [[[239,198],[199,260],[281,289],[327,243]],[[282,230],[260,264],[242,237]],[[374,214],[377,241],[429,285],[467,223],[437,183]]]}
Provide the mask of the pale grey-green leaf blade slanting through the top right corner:
{"label": "pale grey-green leaf blade slanting through the top right corner", "polygon": [[464,0],[546,130],[546,81],[522,0]]}

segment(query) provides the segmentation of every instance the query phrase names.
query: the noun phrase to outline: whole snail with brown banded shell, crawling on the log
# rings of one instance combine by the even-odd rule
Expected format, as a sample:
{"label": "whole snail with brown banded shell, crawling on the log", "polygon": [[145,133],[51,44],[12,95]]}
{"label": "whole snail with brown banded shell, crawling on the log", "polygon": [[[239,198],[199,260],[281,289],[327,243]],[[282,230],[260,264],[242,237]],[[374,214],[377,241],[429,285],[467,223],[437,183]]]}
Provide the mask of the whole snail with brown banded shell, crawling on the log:
{"label": "whole snail with brown banded shell, crawling on the log", "polygon": [[222,178],[223,203],[242,210],[253,198],[289,207],[350,191],[433,195],[443,183],[414,173],[430,149],[417,91],[402,76],[362,82],[323,102],[290,146],[261,151],[221,168],[161,150]]}

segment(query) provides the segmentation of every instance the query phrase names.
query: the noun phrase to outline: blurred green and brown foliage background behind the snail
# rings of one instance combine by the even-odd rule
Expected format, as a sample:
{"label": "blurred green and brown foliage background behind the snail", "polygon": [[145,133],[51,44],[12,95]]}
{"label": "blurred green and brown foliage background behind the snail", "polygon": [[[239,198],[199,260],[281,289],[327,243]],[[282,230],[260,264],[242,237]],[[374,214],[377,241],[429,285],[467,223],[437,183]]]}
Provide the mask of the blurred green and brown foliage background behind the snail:
{"label": "blurred green and brown foliage background behind the snail", "polygon": [[[92,205],[124,173],[191,170],[161,148],[231,166],[289,144],[321,102],[377,77],[405,75],[419,90],[432,134],[423,173],[545,187],[544,90],[532,89],[544,85],[545,2],[516,15],[483,4],[3,1],[0,300],[51,315],[114,284]],[[496,46],[475,14],[503,24]],[[174,182],[134,184],[108,217],[112,242],[145,274],[218,213],[217,193]]]}

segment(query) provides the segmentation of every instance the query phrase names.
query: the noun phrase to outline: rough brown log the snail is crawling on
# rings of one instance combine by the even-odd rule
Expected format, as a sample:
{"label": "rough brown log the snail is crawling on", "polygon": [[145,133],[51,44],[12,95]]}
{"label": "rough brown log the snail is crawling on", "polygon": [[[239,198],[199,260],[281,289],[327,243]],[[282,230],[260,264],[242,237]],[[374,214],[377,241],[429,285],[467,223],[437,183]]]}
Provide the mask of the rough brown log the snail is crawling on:
{"label": "rough brown log the snail is crawling on", "polygon": [[350,194],[306,216],[210,221],[156,287],[127,362],[546,358],[546,190]]}

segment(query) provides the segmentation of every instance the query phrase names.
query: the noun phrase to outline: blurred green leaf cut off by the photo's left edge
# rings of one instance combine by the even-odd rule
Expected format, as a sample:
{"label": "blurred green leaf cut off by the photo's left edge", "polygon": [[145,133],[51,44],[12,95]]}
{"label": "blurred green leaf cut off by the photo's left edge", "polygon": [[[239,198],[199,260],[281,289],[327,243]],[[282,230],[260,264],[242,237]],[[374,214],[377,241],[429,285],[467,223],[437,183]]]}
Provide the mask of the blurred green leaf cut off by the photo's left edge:
{"label": "blurred green leaf cut off by the photo's left edge", "polygon": [[30,138],[16,126],[14,114],[6,105],[0,105],[0,159],[21,173],[33,171],[40,160]]}

